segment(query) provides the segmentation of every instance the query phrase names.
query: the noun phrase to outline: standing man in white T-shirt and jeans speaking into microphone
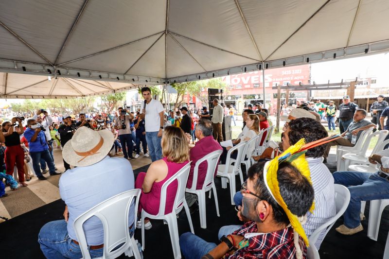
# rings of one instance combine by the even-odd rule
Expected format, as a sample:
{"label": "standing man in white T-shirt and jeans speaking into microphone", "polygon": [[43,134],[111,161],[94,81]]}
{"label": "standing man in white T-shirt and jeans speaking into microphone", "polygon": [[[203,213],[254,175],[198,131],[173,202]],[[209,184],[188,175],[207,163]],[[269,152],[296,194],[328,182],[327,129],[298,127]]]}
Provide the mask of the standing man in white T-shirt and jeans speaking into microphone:
{"label": "standing man in white T-shirt and jeans speaking into microphone", "polygon": [[146,142],[149,146],[149,154],[151,161],[156,161],[162,158],[162,130],[163,130],[163,114],[164,108],[162,104],[151,98],[151,90],[149,87],[141,89],[142,96],[146,101],[146,108],[142,110],[141,119],[144,118],[146,129]]}

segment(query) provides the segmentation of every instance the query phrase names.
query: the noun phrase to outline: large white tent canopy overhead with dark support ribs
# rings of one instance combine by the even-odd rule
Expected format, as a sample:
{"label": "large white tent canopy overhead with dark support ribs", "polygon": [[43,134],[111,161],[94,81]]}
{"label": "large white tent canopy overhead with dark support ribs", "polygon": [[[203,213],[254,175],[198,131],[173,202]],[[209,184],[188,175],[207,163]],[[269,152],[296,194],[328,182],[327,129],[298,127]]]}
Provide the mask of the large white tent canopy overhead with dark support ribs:
{"label": "large white tent canopy overhead with dark support ribs", "polygon": [[388,0],[2,0],[0,71],[192,81],[385,52],[388,17]]}

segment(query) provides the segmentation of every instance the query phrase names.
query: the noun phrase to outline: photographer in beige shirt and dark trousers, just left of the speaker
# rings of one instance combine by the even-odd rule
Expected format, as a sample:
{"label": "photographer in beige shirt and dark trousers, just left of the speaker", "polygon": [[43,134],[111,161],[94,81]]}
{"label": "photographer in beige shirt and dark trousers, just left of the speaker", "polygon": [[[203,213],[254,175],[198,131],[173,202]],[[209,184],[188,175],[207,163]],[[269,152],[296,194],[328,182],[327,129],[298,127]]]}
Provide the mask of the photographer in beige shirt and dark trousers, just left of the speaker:
{"label": "photographer in beige shirt and dark trousers, just left of the speaker", "polygon": [[130,121],[134,119],[131,113],[127,113],[127,110],[119,107],[119,117],[115,119],[115,129],[119,131],[119,140],[122,144],[123,154],[125,159],[134,159],[132,156],[132,132],[130,127]]}

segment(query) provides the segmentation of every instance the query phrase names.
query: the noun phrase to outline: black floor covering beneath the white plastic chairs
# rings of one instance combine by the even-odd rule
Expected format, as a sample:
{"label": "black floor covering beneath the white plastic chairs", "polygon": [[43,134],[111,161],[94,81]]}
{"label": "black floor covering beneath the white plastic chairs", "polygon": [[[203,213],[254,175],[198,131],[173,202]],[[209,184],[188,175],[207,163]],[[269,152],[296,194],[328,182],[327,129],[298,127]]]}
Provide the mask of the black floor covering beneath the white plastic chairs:
{"label": "black floor covering beneath the white plastic chairs", "polygon": [[[329,160],[328,167],[334,171],[334,163]],[[145,172],[148,166],[139,168],[134,173]],[[236,179],[240,185],[239,178]],[[195,234],[209,242],[217,242],[217,233],[221,226],[228,224],[239,224],[236,211],[230,205],[229,189],[221,189],[219,178],[215,180],[219,201],[220,217],[216,216],[213,195],[207,202],[207,229],[200,228],[199,214],[192,215]],[[239,190],[237,186],[236,190]],[[0,224],[0,258],[1,259],[41,259],[44,258],[40,251],[37,236],[42,225],[53,220],[63,219],[62,213],[64,203],[62,200],[54,201],[43,207],[36,208],[30,212]],[[343,236],[335,231],[335,227],[342,224],[340,218],[334,227],[327,234],[320,247],[321,259],[382,259],[385,242],[389,231],[389,213],[384,211],[381,219],[378,241],[372,241],[367,237],[367,224],[369,217],[369,203],[366,206],[366,220],[362,222],[364,230],[353,236]],[[182,215],[183,214],[183,215]],[[180,214],[177,219],[179,233],[190,231],[185,213]],[[182,216],[181,216],[182,215]],[[153,221],[153,228],[145,231],[145,259],[150,258],[173,258],[173,251],[170,242],[169,229],[162,221]],[[135,231],[135,238],[141,241],[140,229]],[[17,242],[19,244],[17,244]],[[122,255],[120,258],[126,258]]]}

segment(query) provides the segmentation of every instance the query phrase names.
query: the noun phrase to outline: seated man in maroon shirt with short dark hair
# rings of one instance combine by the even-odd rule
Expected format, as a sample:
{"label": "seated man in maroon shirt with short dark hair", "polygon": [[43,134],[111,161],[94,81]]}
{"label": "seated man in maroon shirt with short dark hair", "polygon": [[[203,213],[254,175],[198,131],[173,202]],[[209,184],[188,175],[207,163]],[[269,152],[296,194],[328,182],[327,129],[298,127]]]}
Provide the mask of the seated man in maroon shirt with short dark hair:
{"label": "seated man in maroon shirt with short dark hair", "polygon": [[[195,136],[199,140],[196,142],[195,146],[191,148],[190,150],[190,159],[192,161],[191,163],[191,170],[189,171],[188,181],[186,184],[186,188],[192,188],[193,184],[193,173],[195,170],[196,162],[203,158],[204,156],[216,151],[216,150],[222,150],[222,147],[220,144],[213,139],[212,137],[212,122],[210,120],[206,119],[200,119],[197,122],[196,128],[195,128]],[[197,183],[196,183],[196,190],[201,190],[203,188],[205,176],[207,174],[207,161],[202,162],[198,166],[198,175],[197,175]],[[217,173],[217,167],[215,170],[215,175]],[[195,201],[197,201],[197,195],[193,193],[186,192],[185,193],[185,199],[186,203],[189,207],[191,207]]]}

